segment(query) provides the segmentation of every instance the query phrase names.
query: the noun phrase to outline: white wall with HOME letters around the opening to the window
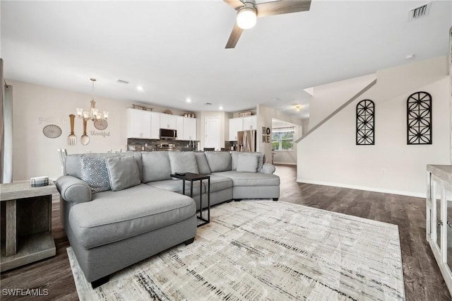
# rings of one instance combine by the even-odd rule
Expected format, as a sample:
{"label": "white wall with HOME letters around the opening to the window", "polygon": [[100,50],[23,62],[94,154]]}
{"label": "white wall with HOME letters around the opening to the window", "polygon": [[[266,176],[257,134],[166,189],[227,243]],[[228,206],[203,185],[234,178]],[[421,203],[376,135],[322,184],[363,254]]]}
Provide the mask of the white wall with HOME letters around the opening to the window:
{"label": "white wall with HOME letters around the opening to the window", "polygon": [[[292,124],[297,124],[298,128],[295,129],[295,138],[294,140],[296,140],[297,138],[299,138],[298,135],[300,135],[302,133],[302,119],[299,119],[297,117],[295,117],[294,115],[290,115],[290,114],[285,114],[283,112],[280,112],[278,110],[275,110],[271,107],[266,107],[263,105],[258,105],[257,109],[257,151],[261,152],[261,153],[265,153],[266,154],[266,162],[267,163],[271,163],[271,136],[270,136],[270,143],[263,143],[262,142],[262,128],[263,127],[269,127],[270,129],[272,128],[272,119],[279,119],[279,120],[283,120],[283,122],[290,122]],[[284,155],[279,155],[280,158],[278,158],[278,154],[275,155],[275,162],[279,162],[278,160],[280,160],[280,163],[287,163],[287,164],[296,164],[297,160],[297,145],[294,146],[294,151],[292,152],[292,157],[290,155],[291,152],[287,152]]]}

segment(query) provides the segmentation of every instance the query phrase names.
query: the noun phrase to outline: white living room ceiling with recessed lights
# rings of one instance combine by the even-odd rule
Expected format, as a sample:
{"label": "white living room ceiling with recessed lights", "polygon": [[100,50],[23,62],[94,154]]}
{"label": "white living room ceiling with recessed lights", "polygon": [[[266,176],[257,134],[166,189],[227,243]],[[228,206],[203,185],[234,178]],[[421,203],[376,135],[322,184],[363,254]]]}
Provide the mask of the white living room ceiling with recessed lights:
{"label": "white living room ceiling with recessed lights", "polygon": [[426,2],[313,0],[307,12],[258,18],[225,49],[235,13],[220,0],[2,0],[1,57],[18,81],[90,94],[95,77],[95,95],[107,98],[187,111],[264,104],[307,117],[304,88],[407,64],[408,54],[446,55],[452,1],[408,22]]}

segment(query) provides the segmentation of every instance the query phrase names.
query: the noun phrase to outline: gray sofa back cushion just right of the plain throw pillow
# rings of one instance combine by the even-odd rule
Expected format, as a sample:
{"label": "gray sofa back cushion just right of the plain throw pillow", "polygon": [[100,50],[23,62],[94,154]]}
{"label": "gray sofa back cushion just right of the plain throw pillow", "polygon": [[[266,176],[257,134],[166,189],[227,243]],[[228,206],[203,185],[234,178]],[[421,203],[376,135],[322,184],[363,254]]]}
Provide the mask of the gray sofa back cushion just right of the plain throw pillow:
{"label": "gray sofa back cushion just right of the plain throw pillow", "polygon": [[171,164],[167,151],[142,152],[143,183],[171,179]]}

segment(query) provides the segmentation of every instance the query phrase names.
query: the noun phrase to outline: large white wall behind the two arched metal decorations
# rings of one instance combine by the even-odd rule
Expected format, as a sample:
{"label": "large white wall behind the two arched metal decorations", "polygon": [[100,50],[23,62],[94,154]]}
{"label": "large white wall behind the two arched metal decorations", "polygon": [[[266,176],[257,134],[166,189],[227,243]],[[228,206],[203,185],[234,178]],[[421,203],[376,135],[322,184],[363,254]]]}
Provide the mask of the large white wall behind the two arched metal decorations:
{"label": "large white wall behind the two arched metal decorations", "polygon": [[[297,182],[425,196],[426,165],[450,164],[446,57],[378,71],[376,78],[373,88],[298,143]],[[362,79],[357,83],[364,88]],[[329,87],[319,87],[322,102],[335,100],[338,89],[357,92],[353,83]],[[406,143],[406,101],[417,91],[432,95],[432,145]],[[375,145],[356,146],[356,105],[367,98],[376,106]]]}

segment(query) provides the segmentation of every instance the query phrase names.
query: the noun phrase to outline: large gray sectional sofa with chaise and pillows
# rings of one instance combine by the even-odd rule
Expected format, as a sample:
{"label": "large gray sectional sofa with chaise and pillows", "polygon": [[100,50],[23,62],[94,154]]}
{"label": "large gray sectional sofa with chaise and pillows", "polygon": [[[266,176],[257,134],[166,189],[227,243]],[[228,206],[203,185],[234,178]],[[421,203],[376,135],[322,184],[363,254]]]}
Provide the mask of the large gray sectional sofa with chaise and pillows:
{"label": "large gray sectional sofa with chaise and pillows", "polygon": [[[111,273],[194,241],[196,211],[208,182],[183,194],[174,172],[210,175],[210,205],[232,199],[278,200],[280,179],[261,153],[143,152],[66,157],[61,220],[78,264],[94,287]],[[186,185],[186,194],[190,194]],[[200,192],[201,191],[201,192]]]}

